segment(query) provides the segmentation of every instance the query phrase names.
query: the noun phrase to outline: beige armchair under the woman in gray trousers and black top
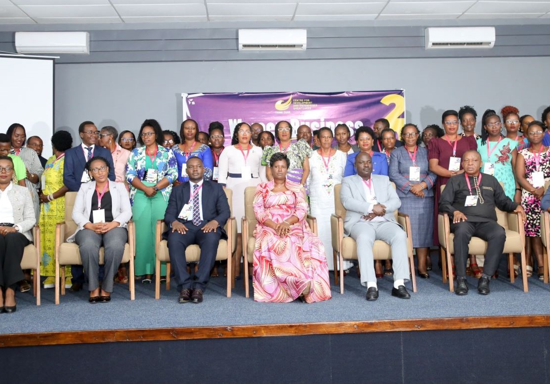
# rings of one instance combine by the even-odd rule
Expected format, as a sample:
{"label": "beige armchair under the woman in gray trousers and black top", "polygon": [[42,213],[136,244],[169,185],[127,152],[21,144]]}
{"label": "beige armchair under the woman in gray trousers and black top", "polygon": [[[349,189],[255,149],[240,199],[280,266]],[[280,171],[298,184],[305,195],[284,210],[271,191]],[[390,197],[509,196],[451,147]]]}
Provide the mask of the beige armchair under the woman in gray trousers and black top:
{"label": "beige armchair under the woman in gray trousers and black top", "polygon": [[[65,221],[56,225],[56,304],[59,304],[59,293],[65,294],[65,265],[82,265],[78,244],[67,243],[67,238],[76,231],[76,223],[73,221],[73,207],[76,200],[76,192],[65,194]],[[128,243],[124,245],[123,263],[130,263],[130,274],[128,276],[128,288],[130,300],[135,299],[135,229],[134,222],[128,222]],[[103,247],[100,248],[100,265],[103,265]],[[60,274],[61,282],[60,284]],[[61,286],[61,287],[60,287]]]}

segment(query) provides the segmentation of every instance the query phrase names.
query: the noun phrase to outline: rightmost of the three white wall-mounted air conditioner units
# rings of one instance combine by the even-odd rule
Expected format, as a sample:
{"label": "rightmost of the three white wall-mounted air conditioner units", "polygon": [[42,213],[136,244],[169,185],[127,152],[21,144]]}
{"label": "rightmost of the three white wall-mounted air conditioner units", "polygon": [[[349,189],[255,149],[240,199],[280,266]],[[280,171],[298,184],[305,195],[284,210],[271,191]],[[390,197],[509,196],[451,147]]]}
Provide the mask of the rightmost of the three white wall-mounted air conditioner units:
{"label": "rightmost of the three white wall-mounted air conditioner units", "polygon": [[436,48],[492,48],[493,26],[426,28],[426,49]]}

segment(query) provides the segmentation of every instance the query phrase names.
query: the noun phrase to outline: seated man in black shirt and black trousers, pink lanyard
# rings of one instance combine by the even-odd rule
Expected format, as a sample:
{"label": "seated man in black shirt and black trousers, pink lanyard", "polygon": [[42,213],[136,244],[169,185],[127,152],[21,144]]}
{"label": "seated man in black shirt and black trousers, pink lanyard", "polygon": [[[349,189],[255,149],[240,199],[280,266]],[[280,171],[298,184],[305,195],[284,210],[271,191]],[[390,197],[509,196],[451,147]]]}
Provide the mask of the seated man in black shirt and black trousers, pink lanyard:
{"label": "seated man in black shirt and black trousers, pink lanyard", "polygon": [[445,185],[439,200],[439,211],[453,218],[450,231],[454,233],[454,261],[456,265],[457,295],[468,293],[466,260],[472,236],[487,242],[483,275],[477,283],[477,292],[488,295],[491,276],[498,268],[506,235],[497,223],[498,207],[501,211],[516,212],[525,220],[525,211],[504,194],[502,186],[492,175],[480,173],[481,156],[470,150],[462,156],[465,173],[453,176]]}

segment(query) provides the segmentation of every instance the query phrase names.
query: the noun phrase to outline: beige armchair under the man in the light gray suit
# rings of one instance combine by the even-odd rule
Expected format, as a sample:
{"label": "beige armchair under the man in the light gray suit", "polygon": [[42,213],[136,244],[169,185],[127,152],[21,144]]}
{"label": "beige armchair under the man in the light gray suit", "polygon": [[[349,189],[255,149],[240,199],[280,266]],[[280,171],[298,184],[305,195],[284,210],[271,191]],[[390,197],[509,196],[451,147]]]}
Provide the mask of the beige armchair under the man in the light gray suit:
{"label": "beige armchair under the man in the light gray suit", "polygon": [[[395,184],[392,183],[393,188]],[[334,283],[340,282],[340,293],[344,293],[344,270],[339,269],[338,278],[338,265],[344,264],[344,259],[357,260],[357,243],[349,236],[344,236],[344,219],[346,209],[340,201],[340,189],[342,184],[336,184],[334,186],[334,213],[331,215],[331,232],[332,232],[332,254],[334,257]],[[414,256],[412,255],[412,234],[409,215],[405,215],[401,212],[395,213],[395,220],[403,226],[407,235],[407,250],[409,257],[409,269],[411,273],[412,292],[416,292],[416,276],[414,269]],[[372,253],[375,260],[388,260],[392,258],[392,247],[384,243],[382,240],[376,240],[372,247]],[[337,263],[337,257],[339,256],[340,263]]]}

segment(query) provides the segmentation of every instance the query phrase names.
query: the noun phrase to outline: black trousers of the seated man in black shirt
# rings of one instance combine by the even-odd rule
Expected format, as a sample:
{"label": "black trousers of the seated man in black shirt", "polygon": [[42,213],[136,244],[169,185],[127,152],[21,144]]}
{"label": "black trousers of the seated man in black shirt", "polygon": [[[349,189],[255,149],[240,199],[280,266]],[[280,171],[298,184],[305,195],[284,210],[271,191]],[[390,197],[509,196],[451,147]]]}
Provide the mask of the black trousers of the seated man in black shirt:
{"label": "black trousers of the seated man in black shirt", "polygon": [[478,237],[487,242],[487,252],[483,262],[483,273],[493,276],[497,271],[500,256],[504,249],[506,234],[504,228],[495,221],[470,222],[461,221],[451,224],[450,231],[454,233],[454,264],[456,276],[466,277],[466,260],[468,259],[468,244],[472,237]]}

